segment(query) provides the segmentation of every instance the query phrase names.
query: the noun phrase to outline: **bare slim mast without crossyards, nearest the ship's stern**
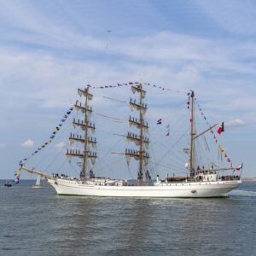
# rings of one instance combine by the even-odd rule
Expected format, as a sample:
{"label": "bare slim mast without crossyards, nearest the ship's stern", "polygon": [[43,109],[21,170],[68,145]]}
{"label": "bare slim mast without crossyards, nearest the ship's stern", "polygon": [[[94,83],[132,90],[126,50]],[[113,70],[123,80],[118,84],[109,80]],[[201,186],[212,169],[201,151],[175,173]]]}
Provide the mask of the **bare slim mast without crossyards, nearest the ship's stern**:
{"label": "bare slim mast without crossyards, nearest the ship's stern", "polygon": [[191,117],[190,117],[190,177],[195,176],[195,93],[194,90],[191,90]]}

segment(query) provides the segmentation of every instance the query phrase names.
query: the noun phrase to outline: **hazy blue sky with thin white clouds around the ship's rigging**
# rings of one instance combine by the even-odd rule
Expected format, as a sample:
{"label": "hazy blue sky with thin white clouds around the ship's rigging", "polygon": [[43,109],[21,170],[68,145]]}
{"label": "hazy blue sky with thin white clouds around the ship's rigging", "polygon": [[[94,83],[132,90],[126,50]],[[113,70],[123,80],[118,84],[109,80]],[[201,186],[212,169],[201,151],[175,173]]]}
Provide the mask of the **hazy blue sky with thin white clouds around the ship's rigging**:
{"label": "hazy blue sky with thin white clouds around the ship's rigging", "polygon": [[[243,161],[244,176],[256,176],[254,1],[0,4],[0,178],[12,178],[20,159],[47,139],[78,87],[129,81],[172,90],[170,96],[149,92],[153,123],[177,99],[186,101],[174,92],[195,90],[212,123],[225,121],[221,139],[234,165]],[[115,111],[102,96],[130,97],[126,90],[93,93],[103,113]],[[67,146],[67,139],[60,137],[55,146],[61,143]],[[47,162],[42,157],[33,164],[40,166],[38,161]]]}

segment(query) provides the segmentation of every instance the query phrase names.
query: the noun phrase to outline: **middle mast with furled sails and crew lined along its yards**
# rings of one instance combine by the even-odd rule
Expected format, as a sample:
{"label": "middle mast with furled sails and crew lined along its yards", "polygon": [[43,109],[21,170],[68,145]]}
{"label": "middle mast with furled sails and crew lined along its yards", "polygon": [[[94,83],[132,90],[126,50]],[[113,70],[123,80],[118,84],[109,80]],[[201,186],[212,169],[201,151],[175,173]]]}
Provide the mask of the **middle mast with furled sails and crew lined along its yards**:
{"label": "middle mast with furled sails and crew lined along its yards", "polygon": [[[144,114],[147,110],[147,104],[143,103],[143,98],[146,96],[146,91],[143,90],[143,85],[138,84],[137,86],[131,86],[132,92],[139,94],[139,102],[136,101],[136,99],[130,100],[130,108],[133,110],[134,108],[138,111],[139,117],[138,119],[135,117],[129,118],[129,125],[135,126],[137,129],[139,129],[139,134],[128,132],[126,138],[128,141],[131,141],[139,147],[139,150],[134,150],[130,148],[125,149],[125,156],[128,161],[128,163],[131,160],[131,157],[135,160],[139,160],[139,166],[138,166],[138,172],[137,172],[137,181],[138,184],[142,184],[143,180],[150,179],[150,175],[148,172],[148,159],[149,154],[146,150],[148,148],[149,139],[148,137],[145,137],[144,134],[146,131],[148,131],[148,123],[144,120]],[[143,172],[143,167],[145,167],[146,170]],[[144,175],[143,175],[144,174]]]}

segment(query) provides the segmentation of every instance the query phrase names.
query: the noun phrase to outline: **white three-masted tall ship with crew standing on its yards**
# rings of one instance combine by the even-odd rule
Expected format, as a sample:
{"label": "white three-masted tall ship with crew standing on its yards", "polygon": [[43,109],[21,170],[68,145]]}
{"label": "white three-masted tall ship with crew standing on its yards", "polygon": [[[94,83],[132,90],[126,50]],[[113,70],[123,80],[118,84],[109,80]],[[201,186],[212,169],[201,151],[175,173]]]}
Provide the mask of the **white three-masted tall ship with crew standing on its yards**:
{"label": "white three-masted tall ship with crew standing on its yards", "polygon": [[[148,106],[144,103],[146,90],[143,84],[131,85],[131,91],[136,99],[131,98],[129,105],[137,115],[128,119],[130,129],[125,134],[126,140],[133,147],[125,148],[123,154],[127,163],[130,160],[137,161],[137,181],[130,183],[127,179],[113,179],[108,177],[96,177],[93,167],[97,161],[96,153],[97,140],[94,137],[96,125],[92,123],[90,116],[93,108],[90,101],[93,95],[90,93],[90,87],[84,90],[79,89],[79,96],[83,98],[82,102],[77,101],[74,108],[82,115],[82,119],[73,119],[73,126],[82,131],[82,135],[71,133],[69,143],[80,144],[80,149],[68,148],[66,155],[69,160],[78,158],[80,160],[79,177],[68,177],[53,173],[49,175],[45,172],[39,172],[34,168],[28,168],[24,164],[20,169],[26,172],[45,177],[48,183],[55,189],[58,195],[84,195],[84,196],[109,196],[109,197],[219,197],[226,196],[232,189],[236,189],[241,184],[241,175],[220,175],[220,172],[236,171],[233,166],[220,167],[213,166],[210,168],[200,166],[197,159],[203,156],[200,150],[196,148],[196,140],[204,136],[217,126],[212,125],[206,131],[198,133],[195,130],[195,92],[189,92],[189,148],[186,148],[188,163],[186,164],[187,174],[182,177],[159,177],[157,175],[152,179],[148,170],[149,154],[149,137],[148,123],[145,119]],[[202,154],[202,155],[199,155]],[[172,173],[172,170],[170,170]],[[233,172],[233,174],[234,174]]]}

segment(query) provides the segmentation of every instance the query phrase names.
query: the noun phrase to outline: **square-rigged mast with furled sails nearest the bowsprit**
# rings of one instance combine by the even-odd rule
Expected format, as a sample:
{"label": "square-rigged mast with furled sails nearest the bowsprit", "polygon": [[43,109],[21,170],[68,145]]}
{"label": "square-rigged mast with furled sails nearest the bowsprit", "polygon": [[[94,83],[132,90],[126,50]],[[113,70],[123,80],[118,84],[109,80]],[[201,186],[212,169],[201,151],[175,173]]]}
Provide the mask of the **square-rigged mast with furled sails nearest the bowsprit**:
{"label": "square-rigged mast with furled sails nearest the bowsprit", "polygon": [[[90,122],[90,115],[92,113],[92,108],[89,106],[89,101],[92,100],[92,95],[89,93],[89,87],[84,90],[78,90],[79,96],[84,96],[84,104],[82,102],[77,101],[74,105],[77,111],[84,113],[83,119],[73,119],[74,128],[79,127],[82,131],[84,131],[84,135],[79,134],[70,134],[69,143],[82,143],[84,144],[83,150],[81,149],[67,149],[67,157],[70,159],[73,156],[79,157],[82,159],[81,165],[81,173],[80,177],[85,179],[90,177],[89,165],[94,165],[96,162],[96,152],[90,149],[96,148],[96,138],[91,137],[96,130],[95,124]],[[89,163],[90,160],[90,163]]]}

